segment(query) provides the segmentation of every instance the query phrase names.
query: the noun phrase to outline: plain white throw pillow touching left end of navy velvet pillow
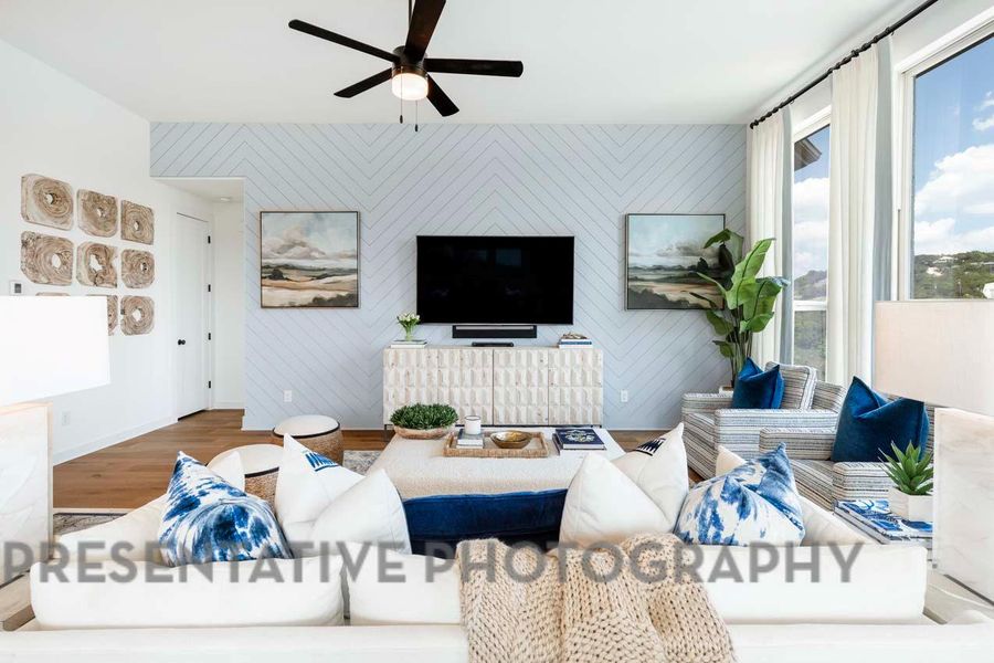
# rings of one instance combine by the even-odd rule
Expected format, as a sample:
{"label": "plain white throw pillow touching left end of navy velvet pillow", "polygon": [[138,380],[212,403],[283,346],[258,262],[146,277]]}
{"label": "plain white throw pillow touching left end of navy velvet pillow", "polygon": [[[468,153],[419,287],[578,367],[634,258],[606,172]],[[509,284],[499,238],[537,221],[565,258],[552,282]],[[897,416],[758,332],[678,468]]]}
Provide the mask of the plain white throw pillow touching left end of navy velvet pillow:
{"label": "plain white throw pillow touching left end of navy velvet pillow", "polygon": [[[289,537],[290,534],[286,533]],[[302,554],[318,554],[324,546],[336,554],[338,544],[383,544],[399,552],[411,552],[408,518],[404,505],[393,482],[382,470],[367,475],[362,481],[339,495],[315,520],[310,533],[297,545]]]}

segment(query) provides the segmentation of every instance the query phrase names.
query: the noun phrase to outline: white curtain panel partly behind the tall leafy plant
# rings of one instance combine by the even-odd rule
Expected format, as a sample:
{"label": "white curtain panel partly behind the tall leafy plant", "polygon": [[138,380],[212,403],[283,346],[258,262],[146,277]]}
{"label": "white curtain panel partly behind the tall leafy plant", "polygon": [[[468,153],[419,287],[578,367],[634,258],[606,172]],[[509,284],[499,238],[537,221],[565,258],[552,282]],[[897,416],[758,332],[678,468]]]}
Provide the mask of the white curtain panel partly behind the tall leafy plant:
{"label": "white curtain panel partly behind the tall leafy plant", "polygon": [[[774,238],[766,262],[760,276],[780,275],[783,269],[783,213],[784,187],[786,176],[784,151],[790,138],[784,139],[784,127],[790,126],[785,115],[790,109],[782,109],[773,117],[758,125],[747,136],[748,157],[748,223],[745,228],[745,250],[757,240]],[[785,124],[786,123],[786,124]],[[748,129],[747,129],[748,130]],[[778,315],[781,315],[781,302],[778,302]],[[752,360],[760,366],[766,361],[779,361],[782,328],[774,318],[766,328],[752,337]]]}

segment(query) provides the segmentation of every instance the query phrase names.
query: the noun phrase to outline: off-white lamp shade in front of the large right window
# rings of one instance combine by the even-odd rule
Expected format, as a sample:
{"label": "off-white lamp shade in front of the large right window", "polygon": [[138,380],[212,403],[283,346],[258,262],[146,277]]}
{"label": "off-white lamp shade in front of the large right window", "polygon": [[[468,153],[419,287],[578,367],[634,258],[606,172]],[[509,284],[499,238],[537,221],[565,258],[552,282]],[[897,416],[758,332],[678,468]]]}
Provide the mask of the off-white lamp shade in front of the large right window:
{"label": "off-white lamp shade in front of the large right window", "polygon": [[877,302],[874,387],[994,415],[994,301]]}

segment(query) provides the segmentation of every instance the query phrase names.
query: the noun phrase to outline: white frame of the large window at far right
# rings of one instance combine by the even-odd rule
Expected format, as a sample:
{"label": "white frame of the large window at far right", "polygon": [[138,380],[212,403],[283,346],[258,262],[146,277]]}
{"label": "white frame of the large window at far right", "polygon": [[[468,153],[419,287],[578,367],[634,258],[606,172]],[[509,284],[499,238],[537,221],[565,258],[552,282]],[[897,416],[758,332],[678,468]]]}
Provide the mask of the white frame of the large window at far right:
{"label": "white frame of the large window at far right", "polygon": [[994,20],[974,28],[962,35],[950,35],[944,44],[939,44],[931,54],[906,64],[898,71],[900,130],[895,133],[899,140],[896,146],[900,155],[900,182],[898,185],[900,204],[897,208],[897,232],[895,233],[895,261],[897,298],[914,299],[911,276],[914,271],[914,80],[938,66],[969,51],[980,42],[994,35]]}

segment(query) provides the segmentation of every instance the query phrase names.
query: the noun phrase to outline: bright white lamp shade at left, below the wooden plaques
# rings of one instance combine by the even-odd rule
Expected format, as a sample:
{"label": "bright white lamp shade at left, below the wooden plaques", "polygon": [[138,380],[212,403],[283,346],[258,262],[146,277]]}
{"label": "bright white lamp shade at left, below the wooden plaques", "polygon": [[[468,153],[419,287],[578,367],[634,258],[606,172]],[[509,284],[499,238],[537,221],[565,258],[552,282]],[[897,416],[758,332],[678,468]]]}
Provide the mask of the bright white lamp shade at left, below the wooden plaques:
{"label": "bright white lamp shade at left, below the wooden plaques", "polygon": [[0,406],[110,382],[103,297],[0,297]]}

